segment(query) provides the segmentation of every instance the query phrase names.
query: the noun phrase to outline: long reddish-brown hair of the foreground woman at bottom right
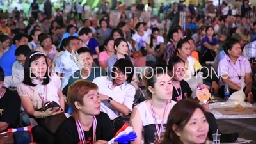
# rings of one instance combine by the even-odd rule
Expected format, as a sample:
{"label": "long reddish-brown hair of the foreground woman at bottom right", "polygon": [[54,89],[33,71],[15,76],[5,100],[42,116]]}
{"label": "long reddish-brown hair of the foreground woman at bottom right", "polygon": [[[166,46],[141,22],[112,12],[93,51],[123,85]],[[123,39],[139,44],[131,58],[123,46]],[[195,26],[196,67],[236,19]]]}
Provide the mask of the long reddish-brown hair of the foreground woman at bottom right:
{"label": "long reddish-brown hair of the foreground woman at bottom right", "polygon": [[182,143],[179,136],[177,136],[177,134],[175,133],[176,130],[173,130],[173,125],[177,125],[177,128],[180,131],[182,131],[186,124],[189,122],[191,116],[195,113],[196,109],[198,108],[205,115],[204,108],[200,104],[198,104],[198,102],[184,99],[175,104],[169,113],[166,124],[166,131],[164,134],[164,138],[161,141],[161,144]]}

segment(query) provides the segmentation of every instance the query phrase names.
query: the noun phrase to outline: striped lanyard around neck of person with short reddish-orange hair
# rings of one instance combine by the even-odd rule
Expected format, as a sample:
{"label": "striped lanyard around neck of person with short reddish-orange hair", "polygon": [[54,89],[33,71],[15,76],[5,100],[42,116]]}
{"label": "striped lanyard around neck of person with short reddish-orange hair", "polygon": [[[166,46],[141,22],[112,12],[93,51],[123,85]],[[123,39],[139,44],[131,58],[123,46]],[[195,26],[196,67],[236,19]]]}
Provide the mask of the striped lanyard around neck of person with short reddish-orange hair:
{"label": "striped lanyard around neck of person with short reddish-orange hair", "polygon": [[[85,143],[84,131],[83,131],[83,128],[82,128],[79,120],[76,120],[76,127],[77,127],[79,140],[82,141],[83,144],[86,144]],[[96,127],[97,127],[97,120],[96,120],[96,117],[93,116],[92,129],[93,129],[93,142],[94,143],[96,142]]]}

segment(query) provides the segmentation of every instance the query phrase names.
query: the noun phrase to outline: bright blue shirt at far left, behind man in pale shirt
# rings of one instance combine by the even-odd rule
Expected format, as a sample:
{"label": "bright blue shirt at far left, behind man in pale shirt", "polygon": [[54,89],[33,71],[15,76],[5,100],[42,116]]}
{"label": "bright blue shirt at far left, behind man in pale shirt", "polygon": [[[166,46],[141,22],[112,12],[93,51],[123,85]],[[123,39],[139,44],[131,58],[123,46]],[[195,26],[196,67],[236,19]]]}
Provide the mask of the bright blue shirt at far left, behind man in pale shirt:
{"label": "bright blue shirt at far left, behind man in pale shirt", "polygon": [[16,61],[15,51],[16,45],[11,45],[8,51],[6,51],[3,56],[0,58],[0,67],[4,70],[4,76],[12,75],[12,65]]}

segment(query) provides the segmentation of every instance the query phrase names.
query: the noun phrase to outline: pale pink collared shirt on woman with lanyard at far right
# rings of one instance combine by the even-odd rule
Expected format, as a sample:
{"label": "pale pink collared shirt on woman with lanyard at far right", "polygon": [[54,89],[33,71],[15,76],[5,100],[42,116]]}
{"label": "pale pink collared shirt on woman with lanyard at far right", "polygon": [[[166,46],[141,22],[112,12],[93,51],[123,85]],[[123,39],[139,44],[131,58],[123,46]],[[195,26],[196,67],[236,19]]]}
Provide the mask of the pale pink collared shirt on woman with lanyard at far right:
{"label": "pale pink collared shirt on woman with lanyard at far right", "polygon": [[[251,73],[251,66],[247,58],[239,56],[236,63],[233,63],[229,56],[225,56],[219,62],[219,86],[225,85],[221,79],[221,76],[228,74],[229,80],[237,86],[241,86],[241,83],[245,82],[245,74]],[[241,79],[239,79],[239,76]]]}

